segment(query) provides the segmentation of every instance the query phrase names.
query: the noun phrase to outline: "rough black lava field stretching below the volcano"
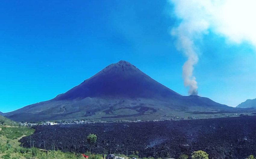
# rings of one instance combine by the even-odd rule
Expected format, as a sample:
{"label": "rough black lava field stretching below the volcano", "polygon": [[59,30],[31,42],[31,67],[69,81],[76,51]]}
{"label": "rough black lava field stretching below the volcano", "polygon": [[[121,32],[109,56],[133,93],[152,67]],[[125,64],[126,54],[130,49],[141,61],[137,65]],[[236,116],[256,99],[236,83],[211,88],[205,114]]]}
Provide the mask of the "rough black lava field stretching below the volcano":
{"label": "rough black lava field stretching below the volcano", "polygon": [[[88,134],[98,139],[92,153],[136,154],[140,157],[177,158],[203,150],[209,158],[256,155],[256,116],[164,122],[95,123],[36,126],[31,145],[44,149],[86,152]],[[30,137],[21,143],[30,147]],[[54,145],[54,146],[53,146]]]}

